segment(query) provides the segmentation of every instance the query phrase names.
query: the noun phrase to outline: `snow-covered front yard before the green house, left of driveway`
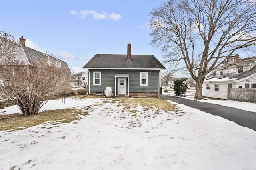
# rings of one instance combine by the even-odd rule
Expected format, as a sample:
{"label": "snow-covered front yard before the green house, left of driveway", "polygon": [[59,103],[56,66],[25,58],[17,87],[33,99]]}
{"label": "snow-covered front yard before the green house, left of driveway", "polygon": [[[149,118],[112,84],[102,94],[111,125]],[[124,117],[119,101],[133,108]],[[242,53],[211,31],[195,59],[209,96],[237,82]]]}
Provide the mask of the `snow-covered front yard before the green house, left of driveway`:
{"label": "snow-covered front yard before the green house, left of driveway", "polygon": [[[49,101],[42,111],[72,108],[88,115],[0,131],[0,170],[256,168],[256,131],[174,102],[170,108],[176,105],[176,111],[168,111],[126,100],[132,98]],[[15,106],[0,109],[10,113],[20,112]]]}

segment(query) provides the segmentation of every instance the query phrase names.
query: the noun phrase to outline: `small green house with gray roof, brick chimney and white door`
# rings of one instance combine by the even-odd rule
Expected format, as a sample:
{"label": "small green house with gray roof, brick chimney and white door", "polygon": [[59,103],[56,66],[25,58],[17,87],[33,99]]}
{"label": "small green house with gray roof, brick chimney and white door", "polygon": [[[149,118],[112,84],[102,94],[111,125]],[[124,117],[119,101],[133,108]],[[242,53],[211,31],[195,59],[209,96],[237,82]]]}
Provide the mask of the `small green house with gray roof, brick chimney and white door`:
{"label": "small green house with gray roof, brick chimney and white door", "polygon": [[113,96],[158,97],[161,70],[166,68],[154,55],[131,55],[131,44],[127,55],[96,54],[85,64],[88,69],[90,95],[103,95],[111,87]]}

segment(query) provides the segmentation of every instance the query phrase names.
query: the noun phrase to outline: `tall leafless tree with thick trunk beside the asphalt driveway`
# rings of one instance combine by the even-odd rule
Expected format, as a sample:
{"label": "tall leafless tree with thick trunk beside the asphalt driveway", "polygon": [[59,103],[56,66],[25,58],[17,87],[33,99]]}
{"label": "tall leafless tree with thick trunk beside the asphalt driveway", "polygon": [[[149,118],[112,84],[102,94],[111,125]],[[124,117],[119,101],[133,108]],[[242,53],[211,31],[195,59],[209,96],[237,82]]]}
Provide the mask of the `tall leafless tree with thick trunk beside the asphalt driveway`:
{"label": "tall leafless tree with thick trunk beside the asphalt driveway", "polygon": [[202,99],[207,74],[256,45],[254,0],[169,0],[150,12],[152,45],[166,62],[182,61]]}

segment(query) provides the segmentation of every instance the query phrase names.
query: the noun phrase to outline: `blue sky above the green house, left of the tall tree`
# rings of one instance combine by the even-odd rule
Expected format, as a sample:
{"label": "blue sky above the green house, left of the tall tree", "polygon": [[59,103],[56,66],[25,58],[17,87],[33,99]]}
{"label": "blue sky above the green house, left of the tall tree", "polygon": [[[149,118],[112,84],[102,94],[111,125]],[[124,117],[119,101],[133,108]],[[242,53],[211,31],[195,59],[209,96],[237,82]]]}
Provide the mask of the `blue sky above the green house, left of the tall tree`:
{"label": "blue sky above the green house, left of the tall tree", "polygon": [[26,46],[54,53],[74,73],[96,54],[152,54],[162,61],[160,49],[150,45],[146,24],[149,12],[162,0],[6,0],[1,2],[0,29]]}

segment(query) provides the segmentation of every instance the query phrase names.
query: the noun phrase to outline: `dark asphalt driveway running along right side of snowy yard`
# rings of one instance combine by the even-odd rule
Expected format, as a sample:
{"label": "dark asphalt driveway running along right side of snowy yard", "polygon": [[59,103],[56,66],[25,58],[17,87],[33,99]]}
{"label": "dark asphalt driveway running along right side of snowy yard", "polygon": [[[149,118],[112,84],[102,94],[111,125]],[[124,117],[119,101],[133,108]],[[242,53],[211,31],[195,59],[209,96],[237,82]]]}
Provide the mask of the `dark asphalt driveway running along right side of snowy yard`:
{"label": "dark asphalt driveway running along right side of snowy yard", "polygon": [[161,97],[179,104],[184,104],[186,106],[196,108],[200,111],[204,111],[212,115],[221,116],[225,119],[236,122],[238,125],[248,127],[256,131],[256,112],[244,111],[232,107],[221,106],[218,104],[198,102],[196,100],[189,100],[164,94],[162,94]]}

